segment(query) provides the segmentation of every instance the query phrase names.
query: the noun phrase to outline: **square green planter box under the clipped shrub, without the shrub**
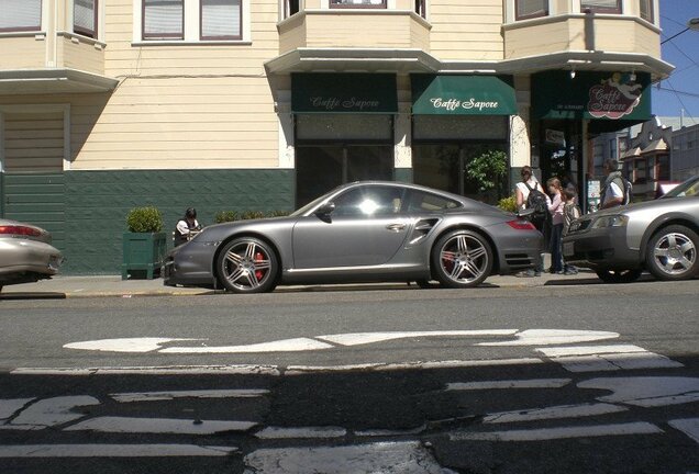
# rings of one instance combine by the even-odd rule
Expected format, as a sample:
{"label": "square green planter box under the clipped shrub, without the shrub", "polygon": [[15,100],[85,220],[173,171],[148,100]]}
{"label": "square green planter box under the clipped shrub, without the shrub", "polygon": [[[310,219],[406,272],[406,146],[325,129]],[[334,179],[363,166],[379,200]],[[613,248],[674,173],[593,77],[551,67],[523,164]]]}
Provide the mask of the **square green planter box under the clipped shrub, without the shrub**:
{"label": "square green planter box under the clipped shrub, without the shrub", "polygon": [[138,272],[152,280],[167,253],[165,233],[124,233],[123,249],[121,279],[127,280]]}

